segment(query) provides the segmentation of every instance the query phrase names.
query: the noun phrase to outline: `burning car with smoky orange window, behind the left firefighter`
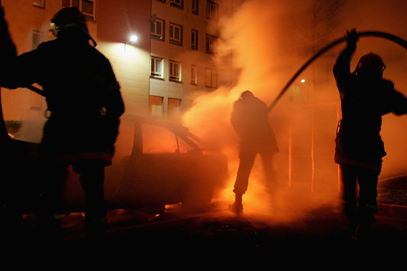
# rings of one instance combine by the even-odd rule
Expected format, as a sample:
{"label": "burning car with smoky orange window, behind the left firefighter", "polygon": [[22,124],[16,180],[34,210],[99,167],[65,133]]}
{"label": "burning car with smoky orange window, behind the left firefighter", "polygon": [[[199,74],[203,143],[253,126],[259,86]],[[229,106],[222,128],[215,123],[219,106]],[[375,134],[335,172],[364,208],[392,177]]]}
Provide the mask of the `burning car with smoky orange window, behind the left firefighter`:
{"label": "burning car with smoky orange window, behind the left firefighter", "polygon": [[[40,194],[36,185],[40,175],[35,170],[38,144],[9,142],[2,148],[2,156],[8,157],[8,166],[3,166],[6,171],[15,168],[9,178],[14,184],[3,191],[24,199],[25,214],[35,212],[33,203]],[[85,209],[79,175],[68,171],[62,214]],[[179,122],[123,116],[112,166],[106,168],[105,198],[109,209],[143,208],[157,214],[164,205],[175,203],[196,209],[207,206],[214,189],[223,187],[226,181],[227,157]],[[9,202],[16,199],[7,195],[3,198]]]}

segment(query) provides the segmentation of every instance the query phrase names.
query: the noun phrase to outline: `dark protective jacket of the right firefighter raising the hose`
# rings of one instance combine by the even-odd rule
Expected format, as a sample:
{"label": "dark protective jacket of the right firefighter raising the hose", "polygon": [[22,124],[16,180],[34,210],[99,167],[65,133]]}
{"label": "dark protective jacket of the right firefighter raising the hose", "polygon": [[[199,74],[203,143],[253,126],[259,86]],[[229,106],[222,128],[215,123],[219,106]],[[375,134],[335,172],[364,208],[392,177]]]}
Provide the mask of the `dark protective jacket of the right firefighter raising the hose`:
{"label": "dark protective jacket of the right firefighter raising the hose", "polygon": [[381,77],[350,72],[354,47],[348,46],[334,66],[341,95],[342,120],[336,135],[335,162],[380,172],[386,155],[380,136],[382,116],[407,113],[407,99]]}

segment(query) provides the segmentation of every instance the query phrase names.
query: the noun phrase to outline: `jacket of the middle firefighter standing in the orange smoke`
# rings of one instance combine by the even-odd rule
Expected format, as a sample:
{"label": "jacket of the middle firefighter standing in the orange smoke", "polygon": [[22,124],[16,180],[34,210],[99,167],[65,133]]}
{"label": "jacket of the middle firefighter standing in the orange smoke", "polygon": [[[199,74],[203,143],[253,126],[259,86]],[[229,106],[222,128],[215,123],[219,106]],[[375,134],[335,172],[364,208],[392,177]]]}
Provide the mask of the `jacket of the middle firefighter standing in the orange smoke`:
{"label": "jacket of the middle firefighter standing in the orange smoke", "polygon": [[240,151],[278,152],[275,135],[269,124],[268,107],[256,96],[246,96],[234,102],[230,122],[240,138]]}

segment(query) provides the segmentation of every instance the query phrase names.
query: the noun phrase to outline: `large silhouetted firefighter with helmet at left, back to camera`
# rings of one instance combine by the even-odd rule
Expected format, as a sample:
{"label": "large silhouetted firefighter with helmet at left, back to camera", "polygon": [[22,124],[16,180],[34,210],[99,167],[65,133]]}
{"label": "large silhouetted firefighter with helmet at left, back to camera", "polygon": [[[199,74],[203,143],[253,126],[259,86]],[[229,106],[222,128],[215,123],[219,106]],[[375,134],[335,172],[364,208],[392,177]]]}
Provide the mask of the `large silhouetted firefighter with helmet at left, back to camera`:
{"label": "large silhouetted firefighter with helmet at left, back to camera", "polygon": [[39,83],[47,98],[49,119],[39,151],[42,212],[58,212],[66,166],[72,165],[85,193],[85,229],[99,237],[108,227],[104,167],[112,161],[123,100],[110,62],[94,48],[85,16],[63,8],[51,22],[57,39],[3,64],[0,83],[11,89]]}

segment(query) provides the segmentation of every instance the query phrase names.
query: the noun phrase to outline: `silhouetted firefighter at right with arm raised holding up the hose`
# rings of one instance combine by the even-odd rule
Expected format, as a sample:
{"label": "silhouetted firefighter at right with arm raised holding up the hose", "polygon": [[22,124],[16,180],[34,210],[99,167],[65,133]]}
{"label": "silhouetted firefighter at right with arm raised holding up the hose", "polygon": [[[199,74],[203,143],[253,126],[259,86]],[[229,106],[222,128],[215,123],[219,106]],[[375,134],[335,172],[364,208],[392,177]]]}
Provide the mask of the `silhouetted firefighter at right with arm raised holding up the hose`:
{"label": "silhouetted firefighter at right with arm raised holding up the hose", "polygon": [[[382,116],[407,113],[407,99],[382,78],[384,63],[373,53],[363,55],[354,73],[351,55],[358,34],[353,29],[345,35],[347,47],[336,60],[334,76],[341,95],[342,120],[336,135],[335,162],[340,165],[343,185],[343,211],[356,222],[354,240],[365,237],[378,211],[377,184],[382,168],[384,144],[380,137]],[[359,194],[356,206],[356,183]]]}

